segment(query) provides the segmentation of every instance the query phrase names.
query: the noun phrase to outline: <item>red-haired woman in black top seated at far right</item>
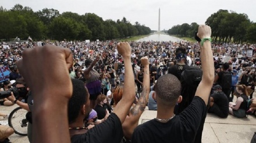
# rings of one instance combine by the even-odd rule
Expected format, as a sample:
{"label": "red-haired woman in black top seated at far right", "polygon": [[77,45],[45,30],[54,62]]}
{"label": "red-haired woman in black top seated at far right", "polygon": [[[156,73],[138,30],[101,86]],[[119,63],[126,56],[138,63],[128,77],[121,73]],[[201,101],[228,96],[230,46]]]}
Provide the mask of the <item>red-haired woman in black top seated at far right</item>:
{"label": "red-haired woman in black top seated at far right", "polygon": [[229,113],[237,118],[246,117],[248,92],[246,85],[236,86],[236,103],[229,102]]}

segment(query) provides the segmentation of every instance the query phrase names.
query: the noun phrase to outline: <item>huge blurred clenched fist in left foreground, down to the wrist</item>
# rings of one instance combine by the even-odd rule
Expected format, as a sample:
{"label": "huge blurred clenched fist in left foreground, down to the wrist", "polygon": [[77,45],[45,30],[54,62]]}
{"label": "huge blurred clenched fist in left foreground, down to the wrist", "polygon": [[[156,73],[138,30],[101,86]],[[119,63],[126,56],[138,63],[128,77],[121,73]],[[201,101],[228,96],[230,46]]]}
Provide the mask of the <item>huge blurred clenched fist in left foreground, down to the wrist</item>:
{"label": "huge blurred clenched fist in left foreground, down to the wrist", "polygon": [[45,45],[26,49],[22,54],[17,67],[33,95],[40,95],[33,96],[34,100],[38,103],[68,101],[73,90],[69,77],[69,68],[73,65],[70,49]]}

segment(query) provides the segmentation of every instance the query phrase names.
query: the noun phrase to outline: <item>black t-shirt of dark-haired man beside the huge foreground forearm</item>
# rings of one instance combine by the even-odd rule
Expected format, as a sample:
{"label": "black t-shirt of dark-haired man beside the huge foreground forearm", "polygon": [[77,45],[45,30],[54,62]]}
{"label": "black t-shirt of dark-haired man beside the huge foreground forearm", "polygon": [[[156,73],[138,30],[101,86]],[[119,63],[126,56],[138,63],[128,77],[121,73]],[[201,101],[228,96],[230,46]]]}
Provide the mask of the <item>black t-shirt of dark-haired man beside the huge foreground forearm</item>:
{"label": "black t-shirt of dark-haired man beside the huge foreground forearm", "polygon": [[87,133],[73,135],[71,142],[120,142],[122,137],[122,123],[115,113],[111,113],[107,120],[88,130]]}

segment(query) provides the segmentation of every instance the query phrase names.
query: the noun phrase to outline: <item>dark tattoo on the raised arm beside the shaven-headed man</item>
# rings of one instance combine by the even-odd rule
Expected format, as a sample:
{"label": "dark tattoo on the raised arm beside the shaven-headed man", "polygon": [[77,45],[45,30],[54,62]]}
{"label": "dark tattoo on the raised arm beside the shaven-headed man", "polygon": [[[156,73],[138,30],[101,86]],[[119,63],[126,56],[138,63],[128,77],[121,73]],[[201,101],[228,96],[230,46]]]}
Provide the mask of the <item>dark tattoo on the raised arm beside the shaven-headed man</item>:
{"label": "dark tattoo on the raised arm beside the shaven-headed man", "polygon": [[147,94],[148,94],[147,86],[144,86],[141,96],[140,98],[138,98],[138,103],[136,104],[135,107],[133,107],[133,109],[131,109],[131,115],[136,116],[140,111],[141,112],[144,111],[147,104],[147,101],[146,101]]}

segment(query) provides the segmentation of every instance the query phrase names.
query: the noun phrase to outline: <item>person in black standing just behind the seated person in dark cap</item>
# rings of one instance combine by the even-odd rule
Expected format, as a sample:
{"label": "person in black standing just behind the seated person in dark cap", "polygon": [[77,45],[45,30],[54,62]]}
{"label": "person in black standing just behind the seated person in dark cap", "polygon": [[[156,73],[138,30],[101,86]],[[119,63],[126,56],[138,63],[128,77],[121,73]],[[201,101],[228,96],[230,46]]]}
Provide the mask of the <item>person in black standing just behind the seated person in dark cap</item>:
{"label": "person in black standing just behind the seated person in dark cap", "polygon": [[232,74],[228,71],[229,63],[223,64],[223,71],[217,69],[218,74],[215,75],[214,82],[221,85],[222,91],[226,94],[227,98],[231,102],[231,87],[232,87]]}

